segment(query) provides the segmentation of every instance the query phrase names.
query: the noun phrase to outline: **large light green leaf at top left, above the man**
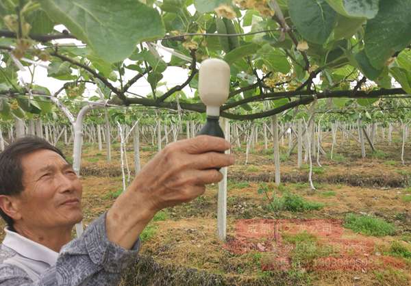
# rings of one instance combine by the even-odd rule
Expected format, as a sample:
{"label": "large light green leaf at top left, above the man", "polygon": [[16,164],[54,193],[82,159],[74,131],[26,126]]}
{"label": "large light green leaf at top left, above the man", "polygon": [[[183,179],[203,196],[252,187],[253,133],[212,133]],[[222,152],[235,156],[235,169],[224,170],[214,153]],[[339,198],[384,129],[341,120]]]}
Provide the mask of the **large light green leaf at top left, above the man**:
{"label": "large light green leaf at top left, above the man", "polygon": [[88,44],[106,62],[131,55],[136,44],[164,36],[160,14],[135,0],[40,0],[56,23]]}

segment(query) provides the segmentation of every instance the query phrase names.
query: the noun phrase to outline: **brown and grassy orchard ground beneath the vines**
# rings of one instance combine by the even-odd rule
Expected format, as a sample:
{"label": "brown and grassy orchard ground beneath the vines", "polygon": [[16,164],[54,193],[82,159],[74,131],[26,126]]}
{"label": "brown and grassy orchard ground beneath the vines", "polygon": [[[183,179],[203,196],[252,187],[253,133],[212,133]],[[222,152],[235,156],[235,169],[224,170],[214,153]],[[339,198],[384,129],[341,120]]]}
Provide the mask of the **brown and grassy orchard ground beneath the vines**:
{"label": "brown and grassy orchard ground beneath the vines", "polygon": [[[337,146],[333,160],[321,157],[321,168],[314,159],[314,191],[307,183],[308,166],[297,168],[295,153],[282,158],[282,185],[277,187],[273,155],[262,142],[249,154],[247,165],[245,148],[233,148],[237,161],[228,171],[227,240],[216,236],[218,191],[210,185],[203,196],[165,209],[149,224],[140,261],[122,285],[411,285],[411,259],[390,252],[393,242],[411,251],[411,166],[401,164],[399,142],[376,147],[379,153],[367,149],[369,157],[362,159],[357,144]],[[70,146],[63,148],[71,152]],[[323,148],[328,152],[329,144]],[[86,225],[121,192],[117,150],[114,144],[109,164],[104,150],[84,145]],[[143,144],[140,152],[144,165],[155,147]],[[127,155],[132,179],[131,144]],[[406,161],[411,161],[411,146]],[[269,192],[259,192],[262,186]],[[323,207],[302,212],[268,207],[286,193]],[[395,225],[395,233],[355,233],[344,227],[347,213],[381,218]]]}

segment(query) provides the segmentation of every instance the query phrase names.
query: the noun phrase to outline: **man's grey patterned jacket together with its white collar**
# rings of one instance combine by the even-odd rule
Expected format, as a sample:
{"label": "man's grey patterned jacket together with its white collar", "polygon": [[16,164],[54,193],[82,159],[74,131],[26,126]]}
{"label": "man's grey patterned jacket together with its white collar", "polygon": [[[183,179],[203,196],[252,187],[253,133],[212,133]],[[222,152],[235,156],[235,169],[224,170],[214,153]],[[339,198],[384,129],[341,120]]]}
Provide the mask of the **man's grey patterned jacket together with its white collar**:
{"label": "man's grey patterned jacket together with its white collar", "polygon": [[8,234],[0,245],[0,285],[118,285],[121,272],[136,262],[139,249],[140,239],[132,250],[108,240],[105,213],[60,253]]}

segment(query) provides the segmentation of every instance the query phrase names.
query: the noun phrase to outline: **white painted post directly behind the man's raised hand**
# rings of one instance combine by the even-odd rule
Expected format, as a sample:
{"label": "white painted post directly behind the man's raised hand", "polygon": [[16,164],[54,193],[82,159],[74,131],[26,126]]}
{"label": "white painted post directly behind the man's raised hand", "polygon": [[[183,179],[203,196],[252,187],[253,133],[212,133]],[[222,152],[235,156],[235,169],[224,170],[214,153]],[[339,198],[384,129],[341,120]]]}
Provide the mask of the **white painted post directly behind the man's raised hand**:
{"label": "white painted post directly behind the man's raised hand", "polygon": [[[225,140],[229,141],[229,120],[221,118],[221,127],[225,133]],[[229,153],[225,151],[225,153]],[[223,180],[219,183],[219,199],[217,202],[217,235],[221,241],[225,241],[227,235],[227,167],[221,168]]]}

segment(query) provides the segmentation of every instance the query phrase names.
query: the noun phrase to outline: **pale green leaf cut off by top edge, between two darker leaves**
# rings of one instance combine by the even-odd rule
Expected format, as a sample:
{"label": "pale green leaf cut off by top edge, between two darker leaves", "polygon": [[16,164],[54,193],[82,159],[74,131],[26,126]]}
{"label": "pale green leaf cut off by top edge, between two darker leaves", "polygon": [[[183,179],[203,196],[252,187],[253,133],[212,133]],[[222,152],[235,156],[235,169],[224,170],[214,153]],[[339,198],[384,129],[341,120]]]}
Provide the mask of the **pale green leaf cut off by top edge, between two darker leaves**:
{"label": "pale green leaf cut off by top edge, between two darker leaves", "polygon": [[354,18],[374,18],[379,0],[325,0],[336,12]]}

